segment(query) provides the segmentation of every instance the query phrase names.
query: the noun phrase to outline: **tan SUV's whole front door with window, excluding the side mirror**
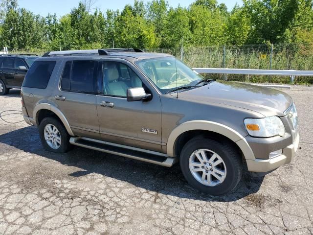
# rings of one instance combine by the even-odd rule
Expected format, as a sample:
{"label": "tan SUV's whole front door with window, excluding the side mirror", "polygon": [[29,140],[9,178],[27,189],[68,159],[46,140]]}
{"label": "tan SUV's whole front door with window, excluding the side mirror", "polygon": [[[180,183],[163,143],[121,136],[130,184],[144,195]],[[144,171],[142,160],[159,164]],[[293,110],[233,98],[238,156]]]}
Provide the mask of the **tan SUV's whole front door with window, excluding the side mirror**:
{"label": "tan SUV's whole front door with window, excluding the side mirror", "polygon": [[[102,140],[161,152],[161,102],[136,68],[124,60],[103,61],[97,112]],[[128,88],[144,87],[150,101],[128,102]]]}

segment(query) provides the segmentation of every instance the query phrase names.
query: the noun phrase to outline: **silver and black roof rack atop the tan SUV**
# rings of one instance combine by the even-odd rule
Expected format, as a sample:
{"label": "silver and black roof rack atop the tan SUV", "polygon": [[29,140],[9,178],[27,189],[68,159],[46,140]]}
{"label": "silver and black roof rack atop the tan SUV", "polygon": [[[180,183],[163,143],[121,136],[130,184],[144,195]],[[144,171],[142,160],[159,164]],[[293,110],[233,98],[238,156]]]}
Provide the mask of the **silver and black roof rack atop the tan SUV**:
{"label": "silver and black roof rack atop the tan SUV", "polygon": [[106,49],[91,49],[91,50],[61,50],[48,51],[43,57],[50,56],[71,56],[71,55],[110,55],[110,52],[144,52],[138,48],[106,48]]}

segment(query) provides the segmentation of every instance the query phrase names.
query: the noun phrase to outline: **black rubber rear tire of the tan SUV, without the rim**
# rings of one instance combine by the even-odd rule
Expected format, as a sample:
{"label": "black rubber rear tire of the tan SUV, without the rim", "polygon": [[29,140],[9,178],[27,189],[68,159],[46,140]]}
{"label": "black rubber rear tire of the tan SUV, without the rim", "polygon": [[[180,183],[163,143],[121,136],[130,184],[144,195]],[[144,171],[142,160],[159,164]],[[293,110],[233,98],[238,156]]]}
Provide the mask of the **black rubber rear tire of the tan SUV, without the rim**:
{"label": "black rubber rear tire of the tan SUV, without the rim", "polygon": [[[45,141],[45,126],[47,124],[54,125],[60,133],[61,144],[60,144],[60,147],[57,149],[50,147],[48,145],[48,143]],[[48,151],[54,152],[54,153],[66,153],[68,150],[71,149],[71,144],[69,143],[70,137],[67,133],[67,130],[65,129],[64,125],[62,123],[60,123],[60,121],[56,118],[47,117],[47,118],[44,118],[40,122],[40,124],[39,124],[39,136],[40,136],[40,140],[41,140],[45,150],[48,150]]]}

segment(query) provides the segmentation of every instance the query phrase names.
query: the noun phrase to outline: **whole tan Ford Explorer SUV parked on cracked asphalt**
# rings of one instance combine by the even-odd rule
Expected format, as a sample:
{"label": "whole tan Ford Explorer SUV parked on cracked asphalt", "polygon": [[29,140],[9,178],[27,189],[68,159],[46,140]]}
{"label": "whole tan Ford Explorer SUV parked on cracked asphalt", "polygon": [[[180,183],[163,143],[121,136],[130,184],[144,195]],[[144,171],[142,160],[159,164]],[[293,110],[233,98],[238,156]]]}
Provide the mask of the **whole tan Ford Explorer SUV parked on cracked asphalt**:
{"label": "whole tan Ford Explorer SUV parked on cracked asphalt", "polygon": [[191,186],[214,195],[236,188],[244,166],[262,175],[290,163],[299,142],[288,94],[203,79],[171,55],[139,49],[47,52],[21,95],[46,150],[179,162]]}

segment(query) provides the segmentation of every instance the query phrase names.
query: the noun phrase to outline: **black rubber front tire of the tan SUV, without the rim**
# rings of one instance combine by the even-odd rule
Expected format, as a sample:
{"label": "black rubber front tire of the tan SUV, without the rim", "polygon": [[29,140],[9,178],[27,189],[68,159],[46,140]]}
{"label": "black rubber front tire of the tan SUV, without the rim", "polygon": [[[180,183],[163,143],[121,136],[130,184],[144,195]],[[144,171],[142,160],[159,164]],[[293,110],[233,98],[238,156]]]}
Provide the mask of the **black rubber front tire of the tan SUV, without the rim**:
{"label": "black rubber front tire of the tan SUV, without the rim", "polygon": [[[189,158],[198,149],[209,149],[217,153],[226,166],[226,177],[224,181],[216,186],[201,184],[192,175],[189,169]],[[234,190],[242,176],[243,164],[238,151],[231,144],[220,143],[211,139],[194,138],[188,141],[180,153],[180,168],[188,184],[197,190],[211,195],[221,195]]]}

